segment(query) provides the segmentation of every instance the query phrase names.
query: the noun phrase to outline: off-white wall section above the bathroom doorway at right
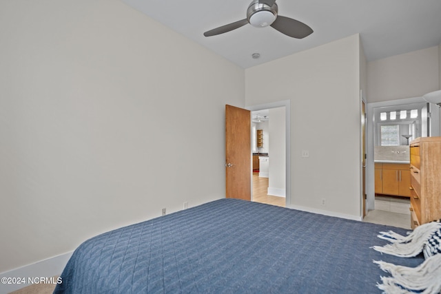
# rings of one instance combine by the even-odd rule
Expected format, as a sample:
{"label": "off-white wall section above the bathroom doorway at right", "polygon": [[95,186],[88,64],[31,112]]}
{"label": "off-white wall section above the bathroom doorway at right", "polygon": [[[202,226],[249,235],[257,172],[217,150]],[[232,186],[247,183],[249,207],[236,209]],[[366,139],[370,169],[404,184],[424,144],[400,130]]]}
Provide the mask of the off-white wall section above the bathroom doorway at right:
{"label": "off-white wall section above the bathroom doorway at right", "polygon": [[368,63],[368,103],[420,97],[440,88],[438,46]]}

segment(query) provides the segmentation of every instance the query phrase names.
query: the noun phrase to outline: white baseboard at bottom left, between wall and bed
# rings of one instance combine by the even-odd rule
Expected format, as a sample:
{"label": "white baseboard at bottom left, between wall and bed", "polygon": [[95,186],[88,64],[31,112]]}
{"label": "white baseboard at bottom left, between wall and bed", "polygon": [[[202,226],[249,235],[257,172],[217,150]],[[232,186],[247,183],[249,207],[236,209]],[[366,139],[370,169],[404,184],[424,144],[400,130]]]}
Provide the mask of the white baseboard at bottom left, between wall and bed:
{"label": "white baseboard at bottom left, between wall and bed", "polygon": [[0,284],[0,293],[10,293],[16,291],[25,286],[29,286],[28,278],[33,277],[53,277],[54,275],[61,275],[65,265],[72,256],[74,251],[64,253],[61,255],[48,258],[47,260],[41,260],[33,264],[21,266],[18,269],[12,269],[11,271],[5,271],[0,273],[0,277],[24,277],[24,284]]}

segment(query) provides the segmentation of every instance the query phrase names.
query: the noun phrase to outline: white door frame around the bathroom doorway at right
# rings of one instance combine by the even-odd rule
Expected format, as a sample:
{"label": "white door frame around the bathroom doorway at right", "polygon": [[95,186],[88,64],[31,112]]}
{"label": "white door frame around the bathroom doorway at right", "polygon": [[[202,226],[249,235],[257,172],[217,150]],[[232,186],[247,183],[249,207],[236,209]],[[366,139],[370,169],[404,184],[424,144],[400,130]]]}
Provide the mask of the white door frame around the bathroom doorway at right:
{"label": "white door frame around the bathroom doorway at right", "polygon": [[[424,99],[422,97],[413,97],[413,98],[403,98],[397,100],[390,101],[382,101],[382,102],[373,102],[367,103],[367,124],[366,124],[366,135],[367,135],[367,160],[366,160],[366,176],[367,176],[367,201],[366,201],[366,210],[375,209],[375,167],[373,165],[373,136],[375,136],[375,123],[373,122],[373,113],[376,108],[379,107],[389,107],[389,106],[399,106],[413,103],[424,103]],[[441,110],[438,107],[435,107],[434,104],[430,106],[431,112],[431,136],[440,136],[440,112]]]}

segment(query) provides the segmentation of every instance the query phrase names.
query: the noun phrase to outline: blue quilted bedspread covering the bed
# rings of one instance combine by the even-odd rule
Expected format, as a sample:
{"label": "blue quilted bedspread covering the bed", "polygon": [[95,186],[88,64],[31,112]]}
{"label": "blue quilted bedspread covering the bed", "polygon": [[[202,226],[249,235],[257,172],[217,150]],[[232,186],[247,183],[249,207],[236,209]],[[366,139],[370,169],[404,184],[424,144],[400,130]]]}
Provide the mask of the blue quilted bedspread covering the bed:
{"label": "blue quilted bedspread covering the bed", "polygon": [[103,233],[72,255],[54,293],[380,293],[379,231],[406,230],[222,199]]}

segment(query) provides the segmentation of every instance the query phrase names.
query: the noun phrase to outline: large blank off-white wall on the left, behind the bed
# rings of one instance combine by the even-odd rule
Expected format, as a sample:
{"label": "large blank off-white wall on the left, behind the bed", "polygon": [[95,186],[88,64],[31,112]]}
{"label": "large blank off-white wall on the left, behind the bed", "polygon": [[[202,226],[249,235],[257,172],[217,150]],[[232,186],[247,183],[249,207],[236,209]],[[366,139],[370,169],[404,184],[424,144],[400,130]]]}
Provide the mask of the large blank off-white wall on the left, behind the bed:
{"label": "large blank off-white wall on the left, behind the bed", "polygon": [[225,197],[243,69],[118,0],[0,11],[0,272]]}

